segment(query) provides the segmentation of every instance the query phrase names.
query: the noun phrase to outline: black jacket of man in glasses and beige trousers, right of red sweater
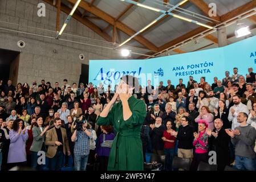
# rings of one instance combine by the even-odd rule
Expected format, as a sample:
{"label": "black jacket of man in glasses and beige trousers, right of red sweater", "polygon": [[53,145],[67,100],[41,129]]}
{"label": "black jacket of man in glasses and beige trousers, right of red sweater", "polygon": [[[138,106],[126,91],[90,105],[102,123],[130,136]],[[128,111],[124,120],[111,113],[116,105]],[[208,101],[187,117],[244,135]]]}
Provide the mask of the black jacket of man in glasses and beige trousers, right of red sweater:
{"label": "black jacket of man in glasses and beige trousers, right of red sweater", "polygon": [[182,149],[192,149],[193,148],[193,140],[194,140],[194,130],[190,125],[186,125],[185,127],[180,126],[178,129],[178,148]]}

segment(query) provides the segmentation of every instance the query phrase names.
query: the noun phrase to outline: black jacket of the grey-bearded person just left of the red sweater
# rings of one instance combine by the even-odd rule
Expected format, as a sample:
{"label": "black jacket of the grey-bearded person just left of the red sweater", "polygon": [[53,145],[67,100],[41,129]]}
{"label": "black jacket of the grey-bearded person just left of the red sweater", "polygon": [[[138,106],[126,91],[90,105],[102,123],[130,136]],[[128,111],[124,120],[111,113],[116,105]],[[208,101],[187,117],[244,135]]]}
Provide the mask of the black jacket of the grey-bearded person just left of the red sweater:
{"label": "black jacket of the grey-bearded person just left of the red sweater", "polygon": [[164,142],[162,141],[162,134],[164,133],[165,127],[161,125],[160,127],[155,127],[151,130],[150,135],[152,139],[152,146],[155,150],[164,150]]}

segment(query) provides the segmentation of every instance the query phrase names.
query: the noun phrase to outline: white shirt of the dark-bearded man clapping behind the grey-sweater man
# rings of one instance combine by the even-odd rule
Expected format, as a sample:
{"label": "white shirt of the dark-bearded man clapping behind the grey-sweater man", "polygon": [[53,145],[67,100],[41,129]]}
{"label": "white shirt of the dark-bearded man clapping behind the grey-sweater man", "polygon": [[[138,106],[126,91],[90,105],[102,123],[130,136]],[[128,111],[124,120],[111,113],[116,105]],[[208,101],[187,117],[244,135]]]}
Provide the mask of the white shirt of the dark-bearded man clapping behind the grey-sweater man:
{"label": "white shirt of the dark-bearded man clapping behind the grey-sweater man", "polygon": [[[231,109],[235,110],[234,114],[231,113]],[[245,104],[242,104],[241,102],[238,105],[233,105],[232,107],[230,107],[228,119],[229,121],[232,121],[232,130],[234,130],[235,127],[240,126],[240,124],[237,122],[237,115],[241,112],[246,114],[250,113],[250,111],[247,109],[247,106]]]}

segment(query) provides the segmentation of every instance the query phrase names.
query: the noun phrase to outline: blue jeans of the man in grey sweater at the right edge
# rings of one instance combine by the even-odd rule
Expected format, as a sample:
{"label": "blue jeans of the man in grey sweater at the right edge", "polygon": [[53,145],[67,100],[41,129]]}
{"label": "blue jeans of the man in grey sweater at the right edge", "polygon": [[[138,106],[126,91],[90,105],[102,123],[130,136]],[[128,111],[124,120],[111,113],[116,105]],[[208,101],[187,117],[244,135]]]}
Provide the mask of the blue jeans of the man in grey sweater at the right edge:
{"label": "blue jeans of the man in grey sweater at the right edge", "polygon": [[235,156],[235,168],[239,170],[256,171],[255,158]]}

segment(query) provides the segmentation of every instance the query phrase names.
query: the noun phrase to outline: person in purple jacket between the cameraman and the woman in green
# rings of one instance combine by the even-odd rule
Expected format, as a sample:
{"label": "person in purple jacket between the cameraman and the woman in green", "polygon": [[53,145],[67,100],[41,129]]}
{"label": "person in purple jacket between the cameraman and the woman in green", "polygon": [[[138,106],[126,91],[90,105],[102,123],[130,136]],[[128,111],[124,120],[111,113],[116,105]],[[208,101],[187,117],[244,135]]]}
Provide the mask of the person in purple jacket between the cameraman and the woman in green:
{"label": "person in purple jacket between the cameraman and the woman in green", "polygon": [[100,126],[100,129],[102,133],[97,140],[95,158],[99,159],[99,170],[107,171],[108,157],[115,134],[112,133],[112,126]]}

